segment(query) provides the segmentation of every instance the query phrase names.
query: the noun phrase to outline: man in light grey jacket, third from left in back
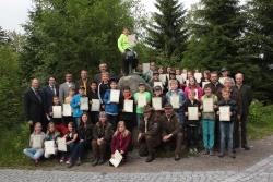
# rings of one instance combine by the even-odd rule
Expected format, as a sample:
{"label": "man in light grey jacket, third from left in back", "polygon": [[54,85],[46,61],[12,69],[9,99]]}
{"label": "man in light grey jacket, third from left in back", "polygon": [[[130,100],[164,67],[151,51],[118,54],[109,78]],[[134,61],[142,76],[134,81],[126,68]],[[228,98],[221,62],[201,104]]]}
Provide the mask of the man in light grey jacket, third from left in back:
{"label": "man in light grey jacket, third from left in back", "polygon": [[69,88],[75,88],[75,84],[72,82],[72,74],[67,73],[66,74],[66,82],[62,83],[59,87],[59,98],[60,102],[63,104],[66,97],[69,95]]}

